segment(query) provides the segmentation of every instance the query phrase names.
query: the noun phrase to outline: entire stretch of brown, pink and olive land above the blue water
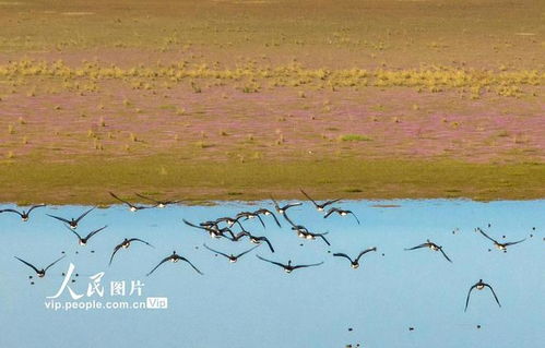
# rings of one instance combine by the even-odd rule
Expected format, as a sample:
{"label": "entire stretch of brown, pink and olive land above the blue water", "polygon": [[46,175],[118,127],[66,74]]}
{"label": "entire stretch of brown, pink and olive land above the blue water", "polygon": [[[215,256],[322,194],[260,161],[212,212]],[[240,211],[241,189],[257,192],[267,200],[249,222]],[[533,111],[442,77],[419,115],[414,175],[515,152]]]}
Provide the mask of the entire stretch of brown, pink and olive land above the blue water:
{"label": "entire stretch of brown, pink and olive land above the blue water", "polygon": [[544,196],[543,1],[0,9],[0,201]]}

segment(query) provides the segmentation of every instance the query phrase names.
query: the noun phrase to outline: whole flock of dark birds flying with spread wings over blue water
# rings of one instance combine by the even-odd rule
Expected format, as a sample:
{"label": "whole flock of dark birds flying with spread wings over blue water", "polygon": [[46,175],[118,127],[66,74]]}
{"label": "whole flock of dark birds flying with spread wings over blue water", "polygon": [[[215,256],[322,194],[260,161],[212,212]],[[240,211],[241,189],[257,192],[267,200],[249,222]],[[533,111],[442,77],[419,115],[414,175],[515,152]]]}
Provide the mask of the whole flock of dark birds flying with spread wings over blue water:
{"label": "whole flock of dark birds flying with spread wings over blue water", "polygon": [[[316,207],[316,209],[318,212],[323,213],[323,218],[328,218],[328,217],[332,216],[333,214],[337,214],[340,216],[352,215],[355,218],[356,223],[358,225],[360,224],[359,219],[357,218],[357,216],[352,211],[342,209],[342,208],[333,207],[332,206],[333,204],[335,204],[339,201],[341,201],[340,199],[330,200],[330,201],[325,201],[325,202],[319,203],[319,202],[316,202],[315,200],[312,200],[305,191],[300,190],[300,192],[312,203],[312,205]],[[127,205],[131,212],[137,212],[137,211],[141,211],[141,209],[145,209],[145,208],[154,208],[154,207],[163,208],[163,207],[165,207],[167,205],[173,205],[173,204],[177,204],[177,203],[181,202],[181,201],[157,201],[157,200],[151,199],[149,196],[144,196],[142,194],[137,194],[139,197],[141,197],[143,200],[146,200],[146,201],[150,201],[150,202],[153,203],[151,205],[137,205],[137,204],[133,204],[133,203],[130,203],[130,202],[128,202],[126,200],[120,199],[119,196],[117,196],[112,192],[109,192],[109,194],[115,200],[117,200],[117,201],[123,203],[125,205]],[[287,215],[287,211],[288,209],[291,209],[293,207],[296,207],[296,206],[300,206],[300,205],[303,205],[303,203],[298,202],[298,203],[288,203],[288,204],[285,204],[285,205],[280,205],[279,202],[276,202],[272,196],[271,196],[271,200],[272,200],[272,202],[274,204],[274,209],[276,211],[276,213],[280,214],[281,216],[283,216],[284,220],[291,226],[291,229],[297,235],[297,237],[306,239],[306,240],[321,239],[325,244],[331,245],[330,242],[328,241],[328,239],[325,238],[325,236],[328,235],[328,232],[323,232],[323,233],[312,232],[307,227],[294,223],[294,220]],[[46,206],[46,205],[45,204],[34,205],[28,211],[16,211],[16,209],[12,209],[12,208],[0,209],[0,214],[1,213],[14,213],[14,214],[20,215],[21,219],[23,221],[26,221],[26,220],[28,220],[29,215],[31,215],[31,213],[34,209],[40,208],[40,207],[44,207],[44,206]],[[107,228],[107,226],[100,227],[100,228],[98,228],[96,230],[91,231],[90,233],[87,233],[84,237],[82,237],[82,235],[78,233],[76,229],[78,229],[79,223],[87,214],[90,214],[93,209],[95,209],[95,207],[92,207],[92,208],[85,211],[83,214],[81,214],[76,218],[66,218],[66,217],[50,215],[50,214],[47,214],[47,216],[61,221],[67,227],[67,229],[70,232],[72,232],[78,238],[79,244],[80,245],[85,245],[93,236],[95,236],[96,233],[98,233],[98,232],[103,231],[105,228]],[[183,220],[183,223],[186,225],[188,225],[188,226],[190,226],[192,228],[205,231],[212,238],[224,238],[224,239],[230,240],[233,242],[238,242],[241,239],[247,238],[251,243],[256,244],[254,247],[252,247],[252,248],[250,248],[250,249],[248,249],[248,250],[246,250],[246,251],[244,251],[244,252],[241,252],[239,254],[236,254],[236,255],[232,254],[232,253],[228,254],[228,253],[225,253],[225,252],[212,249],[209,245],[206,245],[205,243],[203,244],[203,247],[206,250],[213,252],[214,254],[216,254],[216,256],[217,255],[222,255],[222,256],[226,257],[229,262],[235,263],[235,262],[238,261],[238,259],[240,259],[241,256],[250,253],[251,251],[253,251],[254,249],[257,249],[258,247],[260,247],[262,243],[264,243],[264,244],[268,245],[268,248],[269,248],[269,250],[270,250],[271,253],[274,253],[274,248],[273,248],[271,241],[265,236],[256,236],[256,235],[251,233],[250,231],[248,231],[244,227],[244,225],[242,225],[242,223],[245,223],[246,220],[258,219],[259,223],[262,225],[262,227],[265,228],[265,223],[263,220],[263,217],[265,217],[265,216],[266,217],[272,217],[273,220],[274,220],[274,223],[279,227],[282,227],[281,221],[279,220],[279,218],[276,217],[276,215],[272,211],[270,211],[268,208],[259,208],[259,209],[257,209],[254,212],[240,212],[240,213],[238,213],[234,217],[220,217],[220,218],[216,218],[216,219],[212,219],[212,220],[208,220],[208,221],[202,221],[202,223],[198,223],[198,224],[190,223],[190,221],[188,221],[186,219],[182,219],[182,220]],[[239,231],[235,230],[235,226],[239,229]],[[489,237],[481,228],[476,228],[475,231],[478,232],[478,233],[481,233],[486,239],[490,240],[498,250],[503,251],[503,252],[507,251],[508,247],[521,243],[521,242],[523,242],[525,240],[525,239],[522,239],[522,240],[518,240],[518,241],[513,241],[513,242],[501,243],[501,242],[493,239],[491,237]],[[131,245],[131,243],[134,243],[134,242],[142,243],[142,244],[145,244],[147,247],[154,248],[151,243],[149,243],[147,241],[142,240],[140,238],[125,238],[119,244],[117,244],[114,248],[114,251],[112,251],[112,253],[110,255],[110,259],[109,259],[109,265],[111,265],[111,263],[114,261],[114,256],[121,249],[128,249]],[[412,250],[424,249],[424,248],[427,248],[427,249],[429,249],[431,251],[439,251],[442,254],[442,256],[448,262],[452,262],[451,259],[443,251],[443,248],[441,245],[438,245],[438,244],[431,242],[429,239],[426,242],[422,243],[422,244],[418,244],[418,245],[412,247],[412,248],[407,248],[405,250],[406,251],[412,251]],[[371,252],[371,251],[377,251],[377,248],[374,247],[374,248],[368,248],[366,250],[363,250],[362,252],[359,252],[359,254],[355,259],[352,259],[349,255],[347,255],[345,253],[333,253],[333,256],[346,259],[347,261],[349,261],[349,265],[351,265],[352,268],[358,268],[359,267],[359,260],[365,254],[367,254],[368,252]],[[256,256],[259,260],[263,261],[263,262],[266,262],[266,263],[273,264],[275,266],[282,267],[286,273],[292,273],[295,269],[307,268],[307,267],[315,267],[315,266],[319,266],[319,265],[323,264],[323,261],[322,261],[322,262],[319,262],[319,263],[294,265],[294,264],[292,264],[292,260],[288,260],[287,263],[281,263],[281,262],[277,262],[277,261],[265,259],[265,257],[260,256],[258,254]],[[61,261],[62,259],[64,259],[66,255],[62,256],[62,257],[60,257],[60,259],[57,259],[56,261],[54,261],[52,263],[50,263],[49,265],[47,265],[45,268],[38,268],[38,267],[34,266],[33,264],[31,264],[29,262],[27,262],[27,261],[25,261],[23,259],[20,259],[17,256],[14,256],[14,257],[16,260],[19,260],[20,262],[22,262],[23,264],[25,264],[26,266],[28,266],[32,269],[34,269],[34,272],[36,273],[36,275],[42,278],[42,277],[44,277],[46,275],[46,272],[50,267],[52,267],[59,261]],[[189,261],[187,257],[185,257],[182,255],[177,254],[176,251],[174,251],[171,254],[169,254],[168,256],[166,256],[163,260],[161,260],[161,262],[155,267],[153,267],[146,274],[146,276],[150,276],[151,274],[153,274],[159,266],[162,266],[163,264],[165,264],[167,262],[176,263],[176,262],[179,262],[179,261],[186,262],[197,273],[199,273],[201,275],[203,274],[196,265],[193,265],[191,263],[191,261]],[[32,276],[29,278],[32,278]],[[469,305],[469,302],[470,302],[470,297],[471,297],[472,291],[474,289],[483,290],[485,288],[488,288],[491,291],[491,295],[494,296],[494,299],[496,300],[496,302],[498,303],[498,305],[501,307],[501,304],[500,304],[500,302],[498,300],[498,297],[496,296],[496,292],[494,291],[493,287],[489,284],[484,283],[483,279],[479,279],[476,284],[474,284],[473,286],[471,286],[471,288],[470,288],[470,290],[467,292],[464,311],[467,310],[467,305]]]}

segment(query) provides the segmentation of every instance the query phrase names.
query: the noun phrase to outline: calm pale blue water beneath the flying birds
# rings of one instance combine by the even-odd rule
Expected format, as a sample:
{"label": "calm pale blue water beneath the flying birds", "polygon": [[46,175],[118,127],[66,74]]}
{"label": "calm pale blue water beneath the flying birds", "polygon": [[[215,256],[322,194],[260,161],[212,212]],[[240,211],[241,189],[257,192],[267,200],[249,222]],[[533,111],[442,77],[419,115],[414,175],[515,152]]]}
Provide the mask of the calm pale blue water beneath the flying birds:
{"label": "calm pale blue water beneath the flying birds", "polygon": [[[353,211],[362,224],[352,216],[323,218],[308,202],[288,211],[295,223],[329,232],[331,247],[320,239],[298,238],[276,213],[282,228],[271,216],[262,217],[266,228],[256,218],[241,220],[253,235],[266,236],[275,252],[261,244],[237,263],[216,256],[203,243],[227,254],[254,244],[247,239],[212,239],[182,218],[197,224],[259,207],[273,209],[271,202],[175,205],[137,213],[120,205],[97,208],[76,231],[86,235],[108,227],[85,247],[46,214],[75,217],[86,206],[37,208],[26,223],[2,213],[0,347],[458,348],[484,343],[533,348],[545,341],[545,201],[345,201],[335,206]],[[4,204],[0,209],[13,207]],[[502,252],[476,227],[499,242],[526,240]],[[239,230],[236,225],[233,229]],[[109,266],[114,248],[126,237],[154,248],[132,243],[119,250]],[[428,248],[404,250],[427,239],[442,245],[452,263]],[[339,252],[355,256],[371,247],[377,251],[365,254],[357,269],[333,256]],[[146,276],[174,250],[203,275],[180,261],[165,263]],[[14,259],[42,268],[62,255],[44,278]],[[281,263],[323,264],[286,274],[256,255]],[[74,271],[68,279],[62,274],[70,264]],[[501,308],[485,288],[473,290],[464,312],[467,291],[481,278],[494,288]],[[62,290],[64,279],[73,295],[82,297],[74,300],[64,288],[49,299]],[[147,298],[167,298],[168,308],[64,308],[66,303],[138,305]],[[48,308],[57,305],[51,303],[62,308]]]}

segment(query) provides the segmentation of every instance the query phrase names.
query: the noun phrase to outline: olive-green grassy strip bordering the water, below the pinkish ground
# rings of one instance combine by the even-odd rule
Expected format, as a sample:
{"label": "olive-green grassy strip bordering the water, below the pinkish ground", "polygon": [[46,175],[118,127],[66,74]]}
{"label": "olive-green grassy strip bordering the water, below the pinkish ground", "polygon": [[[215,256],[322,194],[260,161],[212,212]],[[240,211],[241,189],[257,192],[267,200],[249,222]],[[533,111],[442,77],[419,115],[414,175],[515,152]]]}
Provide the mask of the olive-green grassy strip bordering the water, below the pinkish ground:
{"label": "olive-green grassy strip bordering the water, below the pinkish ground", "polygon": [[318,199],[530,200],[545,196],[545,165],[455,161],[322,160],[191,163],[154,156],[75,163],[20,161],[0,166],[0,201],[21,204],[108,204],[107,191],[210,200]]}

